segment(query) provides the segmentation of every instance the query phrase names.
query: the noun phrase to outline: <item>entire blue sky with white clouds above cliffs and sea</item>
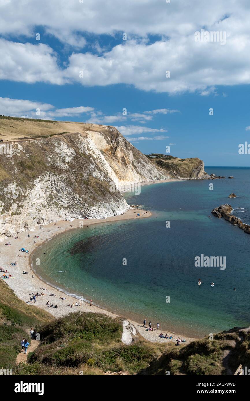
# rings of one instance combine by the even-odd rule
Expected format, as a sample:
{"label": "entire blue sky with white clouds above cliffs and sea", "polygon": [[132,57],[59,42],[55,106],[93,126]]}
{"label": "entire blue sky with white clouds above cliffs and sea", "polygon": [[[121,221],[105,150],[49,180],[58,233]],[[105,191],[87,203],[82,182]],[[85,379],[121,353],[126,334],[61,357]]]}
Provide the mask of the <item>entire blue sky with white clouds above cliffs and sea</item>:
{"label": "entire blue sky with white clouds above cliffs and sea", "polygon": [[0,114],[250,166],[249,20],[249,0],[0,0]]}

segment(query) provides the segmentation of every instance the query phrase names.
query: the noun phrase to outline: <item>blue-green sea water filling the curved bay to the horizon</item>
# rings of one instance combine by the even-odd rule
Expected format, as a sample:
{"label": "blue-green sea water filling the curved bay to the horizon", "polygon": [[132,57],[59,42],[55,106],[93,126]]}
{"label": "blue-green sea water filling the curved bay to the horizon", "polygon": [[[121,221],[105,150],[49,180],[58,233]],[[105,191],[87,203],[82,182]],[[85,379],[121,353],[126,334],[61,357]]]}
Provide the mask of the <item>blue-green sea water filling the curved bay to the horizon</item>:
{"label": "blue-green sea water filling the curved bay to the horizon", "polygon": [[[153,184],[142,186],[140,195],[125,193],[129,204],[143,205],[152,217],[57,235],[35,251],[33,260],[41,259],[36,272],[68,294],[182,334],[203,337],[250,326],[250,235],[209,217],[214,207],[230,203],[250,224],[250,169],[206,171],[226,179]],[[228,199],[231,192],[239,197]],[[195,267],[201,254],[226,257],[226,269]]]}

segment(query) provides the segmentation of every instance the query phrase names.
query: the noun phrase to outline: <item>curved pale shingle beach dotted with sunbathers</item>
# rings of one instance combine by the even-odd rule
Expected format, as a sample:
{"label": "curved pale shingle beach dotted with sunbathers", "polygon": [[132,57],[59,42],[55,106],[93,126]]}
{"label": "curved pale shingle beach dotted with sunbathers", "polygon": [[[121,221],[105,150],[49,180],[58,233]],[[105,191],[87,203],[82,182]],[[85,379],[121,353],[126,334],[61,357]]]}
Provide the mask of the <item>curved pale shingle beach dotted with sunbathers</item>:
{"label": "curved pale shingle beach dotted with sunbathers", "polygon": [[[167,180],[168,182],[169,180]],[[157,181],[159,182],[159,181]],[[163,182],[166,182],[164,180]],[[150,183],[145,183],[150,184]],[[140,217],[137,216],[137,213],[140,213]],[[118,220],[128,220],[128,219],[142,219],[146,217],[150,217],[152,213],[148,211],[144,211],[143,209],[128,209],[123,215],[107,217],[104,219],[87,219],[87,220],[79,220],[75,219],[73,221],[57,221],[56,223],[50,223],[40,229],[37,227],[34,231],[23,231],[18,233],[18,239],[14,239],[13,237],[9,237],[6,242],[10,242],[11,245],[4,245],[4,243],[0,244],[0,266],[4,270],[8,270],[8,273],[12,275],[9,279],[3,279],[1,273],[1,279],[3,279],[6,284],[15,292],[16,296],[20,298],[22,301],[26,302],[26,304],[30,304],[29,298],[32,292],[39,294],[41,293],[41,288],[46,288],[43,290],[46,296],[39,296],[36,299],[35,305],[43,310],[47,310],[52,316],[55,318],[59,318],[65,316],[71,312],[76,312],[78,308],[84,312],[95,312],[95,313],[104,313],[108,316],[115,318],[119,316],[113,312],[110,312],[107,309],[102,308],[101,306],[92,305],[83,300],[81,302],[81,307],[73,306],[72,308],[67,306],[69,304],[73,304],[73,302],[79,302],[79,299],[74,296],[69,296],[65,294],[63,290],[59,290],[55,288],[51,284],[47,284],[43,279],[41,279],[35,271],[33,271],[31,266],[31,259],[33,252],[37,249],[38,246],[41,246],[45,241],[55,237],[64,231],[68,231],[69,229],[79,228],[79,223],[83,223],[83,227],[87,227],[88,225],[97,224],[97,223],[106,223],[110,221],[118,221]],[[56,224],[53,225],[53,224]],[[60,228],[59,228],[60,227]],[[31,237],[28,238],[27,235]],[[39,235],[39,238],[34,238],[35,235]],[[20,252],[21,248],[27,249],[29,252],[24,253]],[[18,257],[20,255],[21,257]],[[10,263],[17,261],[16,266],[10,266]],[[28,271],[28,274],[22,274],[22,271]],[[34,277],[32,277],[34,275]],[[55,297],[49,296],[50,293],[55,294]],[[60,296],[66,296],[66,300],[61,300]],[[51,308],[46,305],[46,302],[57,304],[58,308]],[[34,305],[34,304],[33,304]],[[126,317],[127,316],[120,316]],[[161,328],[158,331],[146,331],[145,328],[142,327],[142,323],[135,322],[134,320],[128,318],[129,322],[134,324],[138,333],[151,342],[160,342],[166,343],[172,340],[166,340],[165,338],[159,338],[158,334],[161,332]],[[153,326],[153,325],[152,325]],[[161,326],[160,326],[161,327]],[[164,330],[165,332],[166,330]],[[172,335],[173,338],[181,337],[186,340],[186,344],[196,340],[196,338],[184,336],[182,334],[177,334],[175,332],[169,332],[168,335]]]}

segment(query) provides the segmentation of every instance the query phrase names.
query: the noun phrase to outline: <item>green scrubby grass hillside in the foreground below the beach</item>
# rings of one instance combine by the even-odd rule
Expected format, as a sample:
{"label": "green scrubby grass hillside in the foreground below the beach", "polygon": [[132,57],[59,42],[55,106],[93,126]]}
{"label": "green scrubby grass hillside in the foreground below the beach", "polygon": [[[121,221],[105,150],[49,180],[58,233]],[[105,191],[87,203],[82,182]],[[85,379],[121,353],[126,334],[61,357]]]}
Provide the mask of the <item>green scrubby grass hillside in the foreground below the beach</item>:
{"label": "green scrubby grass hillside in the foreground below the beach", "polygon": [[[40,346],[15,366],[20,339],[33,326]],[[19,300],[0,280],[0,368],[14,375],[228,375],[250,366],[250,328],[234,328],[190,344],[151,343],[138,335],[121,342],[122,322],[105,314],[75,312],[55,319]]]}

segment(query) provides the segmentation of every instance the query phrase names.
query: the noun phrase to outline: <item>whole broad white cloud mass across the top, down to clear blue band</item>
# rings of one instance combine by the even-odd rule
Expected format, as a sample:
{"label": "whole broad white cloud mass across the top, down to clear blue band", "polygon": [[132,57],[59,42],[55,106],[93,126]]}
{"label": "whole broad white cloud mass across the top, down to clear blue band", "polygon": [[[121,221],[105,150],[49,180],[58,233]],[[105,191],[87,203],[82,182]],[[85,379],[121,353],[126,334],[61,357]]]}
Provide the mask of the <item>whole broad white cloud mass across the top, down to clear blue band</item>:
{"label": "whole broad white cloud mass across the top, down to clear blue band", "polygon": [[[101,56],[72,53],[64,69],[58,65],[55,51],[42,43],[48,36],[42,34],[36,45],[0,39],[4,55],[0,79],[86,86],[124,83],[144,91],[199,91],[203,96],[217,95],[217,85],[250,83],[250,9],[246,0],[237,4],[235,0],[193,0],[192,7],[186,0],[174,4],[163,0],[61,0],[60,7],[57,0],[44,0],[42,6],[33,0],[18,0],[14,12],[12,1],[1,0],[0,6],[0,34],[6,37],[25,35],[35,41],[36,27],[43,26],[46,33],[79,51],[88,37],[96,42],[89,34],[120,35],[120,44],[110,51],[103,53],[98,47]],[[204,26],[208,31],[225,31],[226,44],[195,42],[194,32]],[[122,41],[123,32],[127,41]],[[159,35],[159,40],[150,44],[150,34]],[[83,78],[79,78],[81,70]]]}

